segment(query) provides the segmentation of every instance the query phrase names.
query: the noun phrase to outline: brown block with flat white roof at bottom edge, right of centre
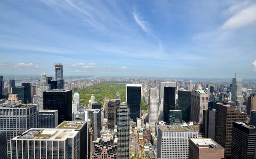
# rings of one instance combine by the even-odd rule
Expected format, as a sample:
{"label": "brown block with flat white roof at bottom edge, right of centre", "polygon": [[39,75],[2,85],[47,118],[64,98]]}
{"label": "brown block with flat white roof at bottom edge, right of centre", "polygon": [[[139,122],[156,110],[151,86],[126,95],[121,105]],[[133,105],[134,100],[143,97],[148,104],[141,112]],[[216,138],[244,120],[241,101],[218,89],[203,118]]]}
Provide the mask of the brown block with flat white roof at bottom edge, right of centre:
{"label": "brown block with flat white roof at bottom edge, right of centre", "polygon": [[224,151],[213,139],[189,139],[189,159],[224,159]]}

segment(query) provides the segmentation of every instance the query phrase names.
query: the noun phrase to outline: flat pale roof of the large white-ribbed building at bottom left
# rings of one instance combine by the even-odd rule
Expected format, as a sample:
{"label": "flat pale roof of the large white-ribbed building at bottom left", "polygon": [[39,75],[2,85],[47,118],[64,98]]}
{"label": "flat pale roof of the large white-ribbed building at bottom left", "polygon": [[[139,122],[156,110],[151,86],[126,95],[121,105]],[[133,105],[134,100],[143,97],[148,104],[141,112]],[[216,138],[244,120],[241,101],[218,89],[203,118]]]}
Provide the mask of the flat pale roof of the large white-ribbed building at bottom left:
{"label": "flat pale roof of the large white-ribbed building at bottom left", "polygon": [[67,138],[73,138],[79,131],[76,129],[42,129],[31,128],[28,131],[16,136],[13,139],[17,140],[66,140]]}

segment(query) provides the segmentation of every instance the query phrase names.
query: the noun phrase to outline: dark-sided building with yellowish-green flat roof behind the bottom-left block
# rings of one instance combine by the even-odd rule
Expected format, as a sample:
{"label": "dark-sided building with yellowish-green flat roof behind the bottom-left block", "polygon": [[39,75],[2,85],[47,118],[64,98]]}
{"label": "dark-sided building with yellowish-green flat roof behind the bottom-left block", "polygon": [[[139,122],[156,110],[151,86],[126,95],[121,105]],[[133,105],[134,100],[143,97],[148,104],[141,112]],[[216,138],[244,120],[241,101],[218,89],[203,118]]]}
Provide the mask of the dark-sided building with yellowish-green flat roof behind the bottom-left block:
{"label": "dark-sided building with yellowish-green flat roof behind the bottom-left block", "polygon": [[[80,159],[88,158],[88,123],[87,122],[72,122],[65,121],[56,127],[57,129],[76,129],[79,131],[80,145]],[[89,156],[90,157],[90,156]]]}

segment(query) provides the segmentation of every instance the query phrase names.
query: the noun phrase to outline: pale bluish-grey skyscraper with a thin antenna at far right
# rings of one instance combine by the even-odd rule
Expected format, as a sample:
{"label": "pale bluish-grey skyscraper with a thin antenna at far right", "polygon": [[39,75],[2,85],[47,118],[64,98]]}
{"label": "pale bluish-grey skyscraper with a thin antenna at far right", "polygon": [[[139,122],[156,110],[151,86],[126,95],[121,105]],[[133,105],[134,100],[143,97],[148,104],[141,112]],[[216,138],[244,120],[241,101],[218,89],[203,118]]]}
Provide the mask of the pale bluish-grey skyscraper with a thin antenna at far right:
{"label": "pale bluish-grey skyscraper with a thin antenna at far right", "polygon": [[243,78],[233,78],[232,82],[232,96],[231,99],[236,102],[238,107],[241,107],[244,102],[242,95]]}

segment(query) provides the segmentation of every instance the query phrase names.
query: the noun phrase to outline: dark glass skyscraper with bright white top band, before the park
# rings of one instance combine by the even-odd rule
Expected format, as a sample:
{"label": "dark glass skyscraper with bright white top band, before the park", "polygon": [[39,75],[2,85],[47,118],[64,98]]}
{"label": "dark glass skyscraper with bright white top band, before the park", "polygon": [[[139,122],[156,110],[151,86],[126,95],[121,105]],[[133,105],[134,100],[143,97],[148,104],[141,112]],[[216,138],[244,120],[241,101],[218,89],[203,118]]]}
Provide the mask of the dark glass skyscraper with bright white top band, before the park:
{"label": "dark glass skyscraper with bright white top band, before the park", "polygon": [[141,84],[126,85],[126,101],[130,108],[130,118],[137,121],[141,117]]}

